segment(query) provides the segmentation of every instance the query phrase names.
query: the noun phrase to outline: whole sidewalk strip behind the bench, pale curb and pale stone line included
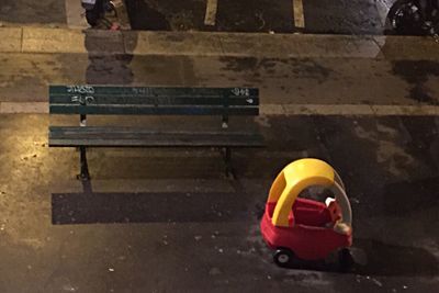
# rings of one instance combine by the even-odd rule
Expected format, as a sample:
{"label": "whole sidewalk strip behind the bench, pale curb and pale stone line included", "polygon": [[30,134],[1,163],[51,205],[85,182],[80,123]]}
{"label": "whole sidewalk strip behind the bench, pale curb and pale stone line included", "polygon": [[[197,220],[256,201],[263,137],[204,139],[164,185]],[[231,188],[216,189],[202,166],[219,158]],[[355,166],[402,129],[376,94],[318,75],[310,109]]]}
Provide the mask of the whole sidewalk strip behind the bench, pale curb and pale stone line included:
{"label": "whole sidewalk strip behind the bench, pale curb and pale stone line included", "polygon": [[257,87],[266,114],[438,114],[432,38],[34,27],[0,36],[2,113],[45,113],[48,84],[94,83]]}

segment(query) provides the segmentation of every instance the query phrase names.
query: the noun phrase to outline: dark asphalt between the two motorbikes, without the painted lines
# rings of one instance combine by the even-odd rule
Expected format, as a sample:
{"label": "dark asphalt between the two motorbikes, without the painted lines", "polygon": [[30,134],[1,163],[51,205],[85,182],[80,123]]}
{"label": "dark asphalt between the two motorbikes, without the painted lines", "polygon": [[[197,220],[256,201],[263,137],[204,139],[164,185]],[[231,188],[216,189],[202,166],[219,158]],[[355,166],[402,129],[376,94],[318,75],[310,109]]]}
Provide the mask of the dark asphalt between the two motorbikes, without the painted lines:
{"label": "dark asphalt between the two motorbikes, without the painted lines", "polygon": [[215,25],[204,24],[206,1],[132,0],[126,2],[133,30],[383,34],[392,1],[306,0],[305,27],[295,27],[293,1],[221,0]]}

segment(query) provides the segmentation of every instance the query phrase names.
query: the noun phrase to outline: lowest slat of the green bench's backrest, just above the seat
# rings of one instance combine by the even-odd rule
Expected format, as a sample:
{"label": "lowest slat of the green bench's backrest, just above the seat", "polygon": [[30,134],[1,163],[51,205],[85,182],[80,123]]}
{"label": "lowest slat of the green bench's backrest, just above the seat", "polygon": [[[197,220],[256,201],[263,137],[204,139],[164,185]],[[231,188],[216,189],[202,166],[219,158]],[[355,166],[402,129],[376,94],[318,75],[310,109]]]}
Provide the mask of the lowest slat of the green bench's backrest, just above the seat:
{"label": "lowest slat of the green bench's backrest, just above the seat", "polygon": [[49,104],[50,114],[114,114],[114,115],[258,115],[255,106],[151,106],[125,104]]}

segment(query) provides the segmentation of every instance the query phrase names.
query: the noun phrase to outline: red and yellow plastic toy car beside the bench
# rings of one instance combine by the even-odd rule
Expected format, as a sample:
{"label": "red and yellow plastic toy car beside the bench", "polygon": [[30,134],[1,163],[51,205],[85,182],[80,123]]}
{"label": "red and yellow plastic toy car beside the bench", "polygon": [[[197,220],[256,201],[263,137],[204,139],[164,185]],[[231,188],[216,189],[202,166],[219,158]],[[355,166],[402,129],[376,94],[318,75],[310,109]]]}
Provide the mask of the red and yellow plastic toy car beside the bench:
{"label": "red and yellow plastic toy car beside the bench", "polygon": [[[314,187],[330,191],[334,198],[323,203],[299,198]],[[288,165],[271,185],[260,223],[262,237],[275,250],[274,262],[323,260],[331,252],[346,253],[352,245],[352,212],[345,185],[325,161],[300,159]]]}

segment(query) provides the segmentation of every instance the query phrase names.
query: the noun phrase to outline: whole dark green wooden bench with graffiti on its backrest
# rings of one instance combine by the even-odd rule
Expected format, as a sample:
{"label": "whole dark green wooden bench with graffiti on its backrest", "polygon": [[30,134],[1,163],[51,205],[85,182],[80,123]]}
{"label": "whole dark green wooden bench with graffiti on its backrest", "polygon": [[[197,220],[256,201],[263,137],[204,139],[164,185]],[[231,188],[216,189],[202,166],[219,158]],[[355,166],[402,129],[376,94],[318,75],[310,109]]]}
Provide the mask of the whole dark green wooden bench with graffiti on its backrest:
{"label": "whole dark green wooden bench with graffiti on its backrest", "polygon": [[[230,148],[261,147],[256,131],[230,131],[232,115],[258,115],[258,89],[150,88],[114,86],[50,86],[50,114],[79,114],[79,126],[49,126],[49,147],[77,147],[80,174],[89,180],[88,147],[217,147],[224,150],[225,170],[233,176]],[[214,115],[212,131],[155,131],[153,127],[89,126],[88,115]]]}

